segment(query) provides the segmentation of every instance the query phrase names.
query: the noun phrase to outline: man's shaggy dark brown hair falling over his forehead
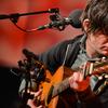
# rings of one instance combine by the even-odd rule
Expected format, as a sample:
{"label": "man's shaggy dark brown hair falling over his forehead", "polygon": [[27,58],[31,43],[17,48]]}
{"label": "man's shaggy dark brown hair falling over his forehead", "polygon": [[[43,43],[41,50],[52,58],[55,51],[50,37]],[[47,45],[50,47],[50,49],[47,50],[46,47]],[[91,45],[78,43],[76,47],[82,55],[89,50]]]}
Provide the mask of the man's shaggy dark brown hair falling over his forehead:
{"label": "man's shaggy dark brown hair falling over his forehead", "polygon": [[81,22],[90,19],[89,32],[102,30],[108,35],[108,0],[89,0],[81,15]]}

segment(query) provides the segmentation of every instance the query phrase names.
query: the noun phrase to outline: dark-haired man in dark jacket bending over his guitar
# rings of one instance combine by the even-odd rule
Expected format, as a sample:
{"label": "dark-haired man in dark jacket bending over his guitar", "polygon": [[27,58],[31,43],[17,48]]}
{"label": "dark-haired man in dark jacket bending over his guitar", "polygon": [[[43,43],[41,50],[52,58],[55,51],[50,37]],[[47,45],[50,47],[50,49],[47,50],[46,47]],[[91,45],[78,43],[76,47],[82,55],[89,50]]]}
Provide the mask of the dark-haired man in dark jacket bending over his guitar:
{"label": "dark-haired man in dark jacket bending over his guitar", "polygon": [[[95,62],[108,56],[108,0],[89,0],[81,16],[81,23],[83,35],[58,43],[49,52],[39,55],[39,60],[44,63],[52,73],[59,66],[75,69],[86,62]],[[108,83],[103,92],[95,94],[93,91],[95,85],[92,84],[95,78],[99,79],[92,76],[83,80],[80,71],[72,73],[69,82],[71,90],[77,92],[77,95],[75,94],[77,100],[70,105],[70,108],[108,108]],[[102,79],[98,82],[107,80],[108,78],[104,76],[104,81]],[[80,92],[85,95],[81,97]],[[84,100],[87,97],[89,99]]]}

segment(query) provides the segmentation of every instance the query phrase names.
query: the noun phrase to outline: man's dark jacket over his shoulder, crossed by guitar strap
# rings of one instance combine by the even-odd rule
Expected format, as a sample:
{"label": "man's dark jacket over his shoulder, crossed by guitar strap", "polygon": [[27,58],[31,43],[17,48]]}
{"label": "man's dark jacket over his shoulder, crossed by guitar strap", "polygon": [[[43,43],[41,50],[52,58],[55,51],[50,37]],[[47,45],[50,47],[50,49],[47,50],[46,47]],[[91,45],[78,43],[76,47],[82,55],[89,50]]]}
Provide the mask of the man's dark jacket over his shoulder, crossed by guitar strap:
{"label": "man's dark jacket over his shoulder, crossed by guitar strap", "polygon": [[[75,39],[71,40],[66,40],[63,41],[55,46],[53,46],[51,50],[48,52],[42,53],[39,56],[39,60],[44,63],[51,72],[55,72],[55,70],[64,64],[65,60],[65,66],[70,67],[72,66],[79,51],[80,51],[80,40],[83,35],[80,35],[76,37]],[[68,54],[66,55],[67,52],[67,46],[68,49]],[[66,57],[66,59],[65,59]]]}

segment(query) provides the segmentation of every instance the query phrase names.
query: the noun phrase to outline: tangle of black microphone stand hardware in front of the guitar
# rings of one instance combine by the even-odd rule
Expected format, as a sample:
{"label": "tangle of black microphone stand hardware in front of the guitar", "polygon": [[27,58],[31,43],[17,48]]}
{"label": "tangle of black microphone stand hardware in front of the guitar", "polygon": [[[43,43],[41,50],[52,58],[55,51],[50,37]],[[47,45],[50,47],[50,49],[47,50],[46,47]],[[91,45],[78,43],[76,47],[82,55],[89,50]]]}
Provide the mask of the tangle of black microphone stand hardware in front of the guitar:
{"label": "tangle of black microphone stand hardware in front of the guitar", "polygon": [[[33,98],[33,95],[30,94],[30,91],[32,91],[32,79],[35,79],[35,83],[37,84],[36,91],[39,89],[39,84],[41,81],[45,80],[45,67],[43,64],[38,63],[35,58],[28,57],[27,59],[24,59],[24,62],[18,62],[19,69],[23,71],[22,79],[25,80],[24,84],[24,91],[22,90],[22,102],[23,102],[23,108],[28,108],[27,102],[29,98]],[[33,70],[35,75],[31,75],[30,71]],[[29,89],[29,93],[28,93]]]}

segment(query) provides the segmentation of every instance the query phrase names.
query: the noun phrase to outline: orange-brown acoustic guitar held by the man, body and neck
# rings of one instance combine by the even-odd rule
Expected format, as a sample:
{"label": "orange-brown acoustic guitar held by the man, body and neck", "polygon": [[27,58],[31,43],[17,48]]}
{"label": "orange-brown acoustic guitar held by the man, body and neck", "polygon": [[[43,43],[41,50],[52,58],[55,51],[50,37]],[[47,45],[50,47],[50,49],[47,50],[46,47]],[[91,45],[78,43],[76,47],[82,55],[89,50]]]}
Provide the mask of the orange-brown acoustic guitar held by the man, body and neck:
{"label": "orange-brown acoustic guitar held by the man, body and neck", "polygon": [[[105,77],[108,78],[108,60],[98,62],[96,64],[87,62],[83,68],[81,67],[75,70],[60,66],[53,76],[46,70],[45,78],[49,79],[49,81],[42,81],[39,85],[39,87],[42,87],[42,94],[39,98],[41,104],[44,104],[45,108],[70,108],[69,105],[76,100],[76,97],[73,91],[69,89],[69,78],[75,71],[79,70],[84,73],[84,78],[93,75],[98,76],[98,78],[105,75]],[[106,85],[108,85],[108,81]],[[103,89],[104,86],[100,86],[98,91],[100,92]],[[63,102],[64,105],[60,102]]]}

